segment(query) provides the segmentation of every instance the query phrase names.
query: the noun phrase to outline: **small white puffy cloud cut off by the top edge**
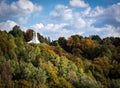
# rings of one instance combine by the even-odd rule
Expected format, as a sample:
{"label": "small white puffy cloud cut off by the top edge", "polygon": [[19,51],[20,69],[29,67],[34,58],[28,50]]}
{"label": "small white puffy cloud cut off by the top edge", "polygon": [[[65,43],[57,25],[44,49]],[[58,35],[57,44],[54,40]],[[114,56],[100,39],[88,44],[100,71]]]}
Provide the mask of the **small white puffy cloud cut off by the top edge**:
{"label": "small white puffy cloud cut off by the top edge", "polygon": [[89,6],[87,3],[84,2],[84,0],[70,0],[70,5],[73,7],[80,8],[85,8]]}

